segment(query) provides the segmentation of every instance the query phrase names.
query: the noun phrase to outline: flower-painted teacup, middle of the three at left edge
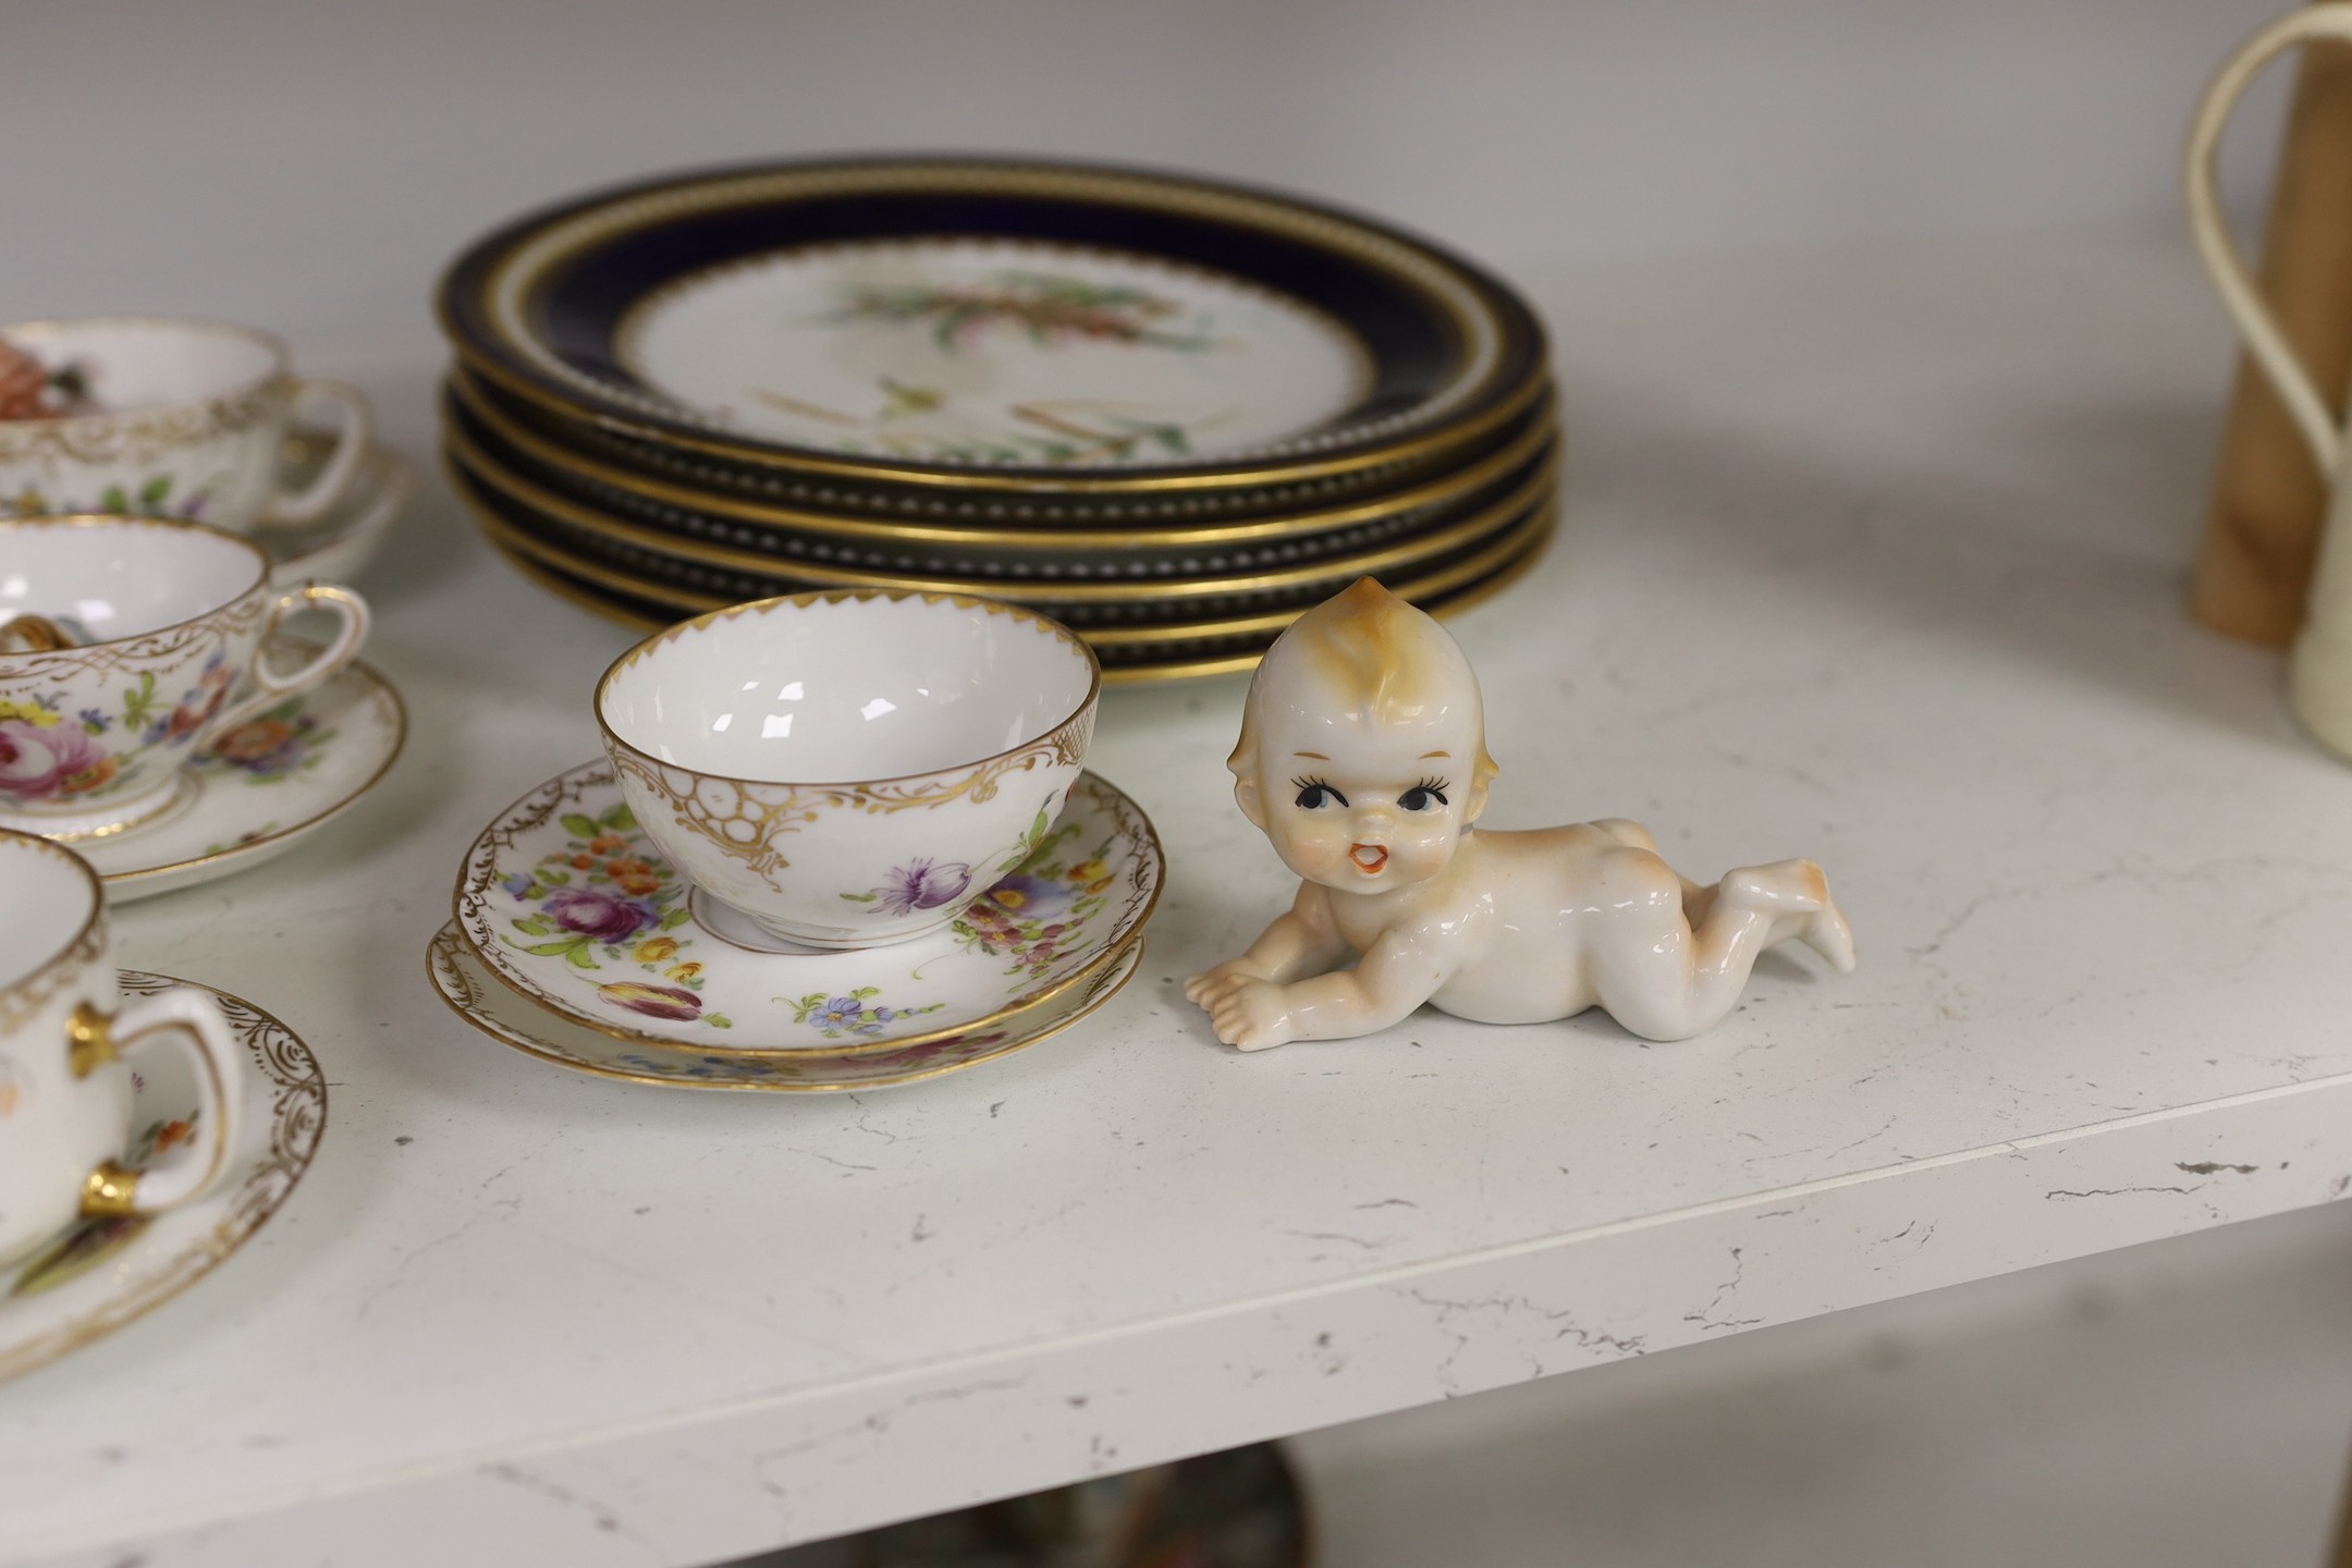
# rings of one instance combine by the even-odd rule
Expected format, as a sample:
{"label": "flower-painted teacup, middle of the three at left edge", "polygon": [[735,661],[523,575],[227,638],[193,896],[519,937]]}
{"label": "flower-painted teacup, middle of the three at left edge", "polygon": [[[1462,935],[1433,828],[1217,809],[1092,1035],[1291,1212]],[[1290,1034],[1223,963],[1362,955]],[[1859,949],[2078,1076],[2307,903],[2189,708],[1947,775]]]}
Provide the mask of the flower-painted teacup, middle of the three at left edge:
{"label": "flower-painted teacup, middle of the three at left edge", "polygon": [[[259,545],[195,522],[21,517],[0,522],[0,625],[40,616],[68,642],[0,651],[0,827],[89,837],[169,811],[212,736],[327,679],[367,637],[355,592],[282,592]],[[263,644],[306,607],[336,632],[278,668]],[[240,684],[254,696],[230,701]]]}

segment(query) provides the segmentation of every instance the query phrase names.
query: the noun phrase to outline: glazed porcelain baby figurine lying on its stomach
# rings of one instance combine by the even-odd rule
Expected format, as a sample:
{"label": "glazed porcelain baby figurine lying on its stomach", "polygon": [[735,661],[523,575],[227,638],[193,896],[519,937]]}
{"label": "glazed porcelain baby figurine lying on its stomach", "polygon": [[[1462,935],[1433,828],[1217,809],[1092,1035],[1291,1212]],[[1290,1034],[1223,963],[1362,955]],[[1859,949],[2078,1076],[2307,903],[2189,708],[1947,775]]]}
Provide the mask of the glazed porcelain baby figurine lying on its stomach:
{"label": "glazed porcelain baby figurine lying on its stomach", "polygon": [[[1475,832],[1496,773],[1477,677],[1371,578],[1265,654],[1228,766],[1242,816],[1303,877],[1249,952],[1185,983],[1242,1051],[1371,1034],[1423,1001],[1479,1023],[1599,1006],[1646,1039],[1689,1039],[1773,943],[1853,969],[1811,860],[1698,886],[1625,820]],[[1355,969],[1334,969],[1348,950]]]}

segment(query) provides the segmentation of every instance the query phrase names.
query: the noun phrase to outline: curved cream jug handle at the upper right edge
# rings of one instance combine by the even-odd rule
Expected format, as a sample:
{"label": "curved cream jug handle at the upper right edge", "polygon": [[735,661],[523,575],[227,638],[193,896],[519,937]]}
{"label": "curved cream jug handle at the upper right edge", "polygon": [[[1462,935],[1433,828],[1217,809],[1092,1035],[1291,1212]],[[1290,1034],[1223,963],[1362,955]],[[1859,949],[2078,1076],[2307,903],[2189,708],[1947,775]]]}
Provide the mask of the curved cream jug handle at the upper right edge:
{"label": "curved cream jug handle at the upper right edge", "polygon": [[2246,85],[2272,59],[2317,38],[2352,42],[2352,5],[2307,5],[2288,12],[2249,38],[2230,56],[2230,63],[2220,68],[2220,75],[2213,78],[2213,85],[2206,87],[2204,99],[2197,103],[2183,176],[2197,254],[2204,259],[2206,273],[2213,275],[2213,287],[2220,289],[2220,303],[2227,306],[2230,320],[2244,334],[2246,353],[2270,376],[2286,411],[2296,418],[2296,428],[2303,430],[2303,440],[2310,442],[2312,456],[2319,458],[2321,477],[2333,487],[2345,447],[2343,425],[2328,411],[2326,395],[2312,386],[2310,371],[2296,360],[2296,350],[2286,346],[2277,317],[2270,315],[2253,277],[2246,273],[2246,263],[2230,240],[2230,226],[2220,216],[2220,195],[2213,179],[2213,148],[2220,146],[2220,132],[2230,122],[2230,110],[2237,108],[2239,94],[2246,92]]}

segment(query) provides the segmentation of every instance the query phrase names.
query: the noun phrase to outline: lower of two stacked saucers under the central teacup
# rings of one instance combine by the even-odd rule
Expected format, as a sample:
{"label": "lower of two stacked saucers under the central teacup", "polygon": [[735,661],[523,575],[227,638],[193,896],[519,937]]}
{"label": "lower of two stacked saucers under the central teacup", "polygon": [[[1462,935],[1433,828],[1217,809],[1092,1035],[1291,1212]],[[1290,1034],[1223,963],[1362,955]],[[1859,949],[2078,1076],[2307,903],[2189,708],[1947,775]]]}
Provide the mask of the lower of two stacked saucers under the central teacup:
{"label": "lower of two stacked saucers under the central teacup", "polygon": [[[1058,1034],[1110,1001],[1141,961],[1143,938],[1138,936],[1110,954],[1105,964],[1018,1013],[948,1034],[929,1034],[917,1044],[891,1044],[882,1051],[856,1046],[809,1051],[804,1046],[746,1048],[746,1041],[739,1039],[731,1048],[717,1051],[654,1037],[630,1039],[534,1009],[492,978],[482,954],[459,936],[456,922],[442,926],[426,950],[426,969],[442,1001],[473,1027],[527,1056],[633,1084],[783,1093],[891,1088],[1011,1056],[1023,1046],[1035,1046],[1047,1034]],[[842,1013],[868,1011],[861,1001],[861,997],[833,997],[826,1006]]]}

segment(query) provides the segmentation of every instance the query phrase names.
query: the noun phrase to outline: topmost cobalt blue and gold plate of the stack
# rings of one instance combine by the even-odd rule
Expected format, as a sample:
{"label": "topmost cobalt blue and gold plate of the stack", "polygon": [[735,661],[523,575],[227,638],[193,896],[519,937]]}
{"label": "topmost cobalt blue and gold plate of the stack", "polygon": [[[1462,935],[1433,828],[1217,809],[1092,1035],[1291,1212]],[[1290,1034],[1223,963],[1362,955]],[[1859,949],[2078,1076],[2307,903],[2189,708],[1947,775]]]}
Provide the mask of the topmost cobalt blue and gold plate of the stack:
{"label": "topmost cobalt blue and gold plate of the stack", "polygon": [[1534,313],[1468,261],[1108,167],[661,179],[485,237],[440,315],[470,376],[621,454],[917,494],[1409,475],[1545,390]]}

